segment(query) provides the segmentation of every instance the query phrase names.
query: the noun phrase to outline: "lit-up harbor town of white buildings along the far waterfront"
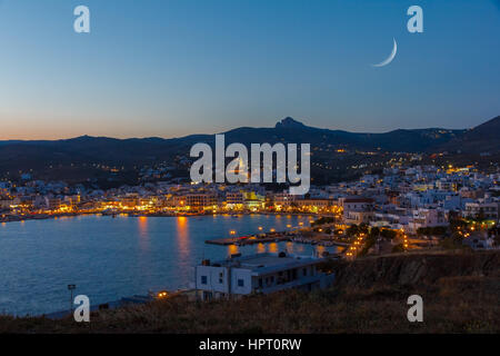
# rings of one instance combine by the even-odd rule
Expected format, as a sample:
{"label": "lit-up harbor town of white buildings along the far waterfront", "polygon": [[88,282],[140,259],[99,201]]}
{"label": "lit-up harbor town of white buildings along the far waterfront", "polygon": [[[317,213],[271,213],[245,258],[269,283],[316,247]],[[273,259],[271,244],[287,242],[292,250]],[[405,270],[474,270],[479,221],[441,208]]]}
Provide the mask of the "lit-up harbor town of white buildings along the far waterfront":
{"label": "lit-up harbor town of white buildings along the far waterfront", "polygon": [[473,166],[394,166],[380,175],[311,187],[296,196],[263,185],[194,185],[156,181],[108,190],[63,181],[0,181],[0,221],[62,216],[170,217],[298,215],[309,222],[242,236],[230,229],[216,245],[294,241],[341,247],[339,256],[433,248],[460,243],[472,249],[498,246],[500,174]]}

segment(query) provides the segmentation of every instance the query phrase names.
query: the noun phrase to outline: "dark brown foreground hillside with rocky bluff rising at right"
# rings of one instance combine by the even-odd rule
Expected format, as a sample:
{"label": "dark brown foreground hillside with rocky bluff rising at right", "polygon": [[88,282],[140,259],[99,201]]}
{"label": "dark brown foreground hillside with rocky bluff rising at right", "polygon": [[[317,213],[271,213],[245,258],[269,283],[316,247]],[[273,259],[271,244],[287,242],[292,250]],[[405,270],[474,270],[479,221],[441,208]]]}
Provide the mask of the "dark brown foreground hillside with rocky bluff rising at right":
{"label": "dark brown foreground hillside with rocky bluff rising at right", "polygon": [[[183,297],[71,319],[0,317],[3,333],[499,333],[500,251],[427,253],[333,263],[336,285],[240,300]],[[423,323],[407,319],[418,294]]]}

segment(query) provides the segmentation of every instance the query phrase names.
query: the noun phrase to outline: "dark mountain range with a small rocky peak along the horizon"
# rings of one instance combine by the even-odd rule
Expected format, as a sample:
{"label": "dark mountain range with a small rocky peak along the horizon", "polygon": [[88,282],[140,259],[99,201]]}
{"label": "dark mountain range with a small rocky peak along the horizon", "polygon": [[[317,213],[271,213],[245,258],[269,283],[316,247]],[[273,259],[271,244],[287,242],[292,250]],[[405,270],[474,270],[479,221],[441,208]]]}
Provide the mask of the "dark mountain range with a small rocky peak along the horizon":
{"label": "dark mountain range with a small rocky peak along the horizon", "polygon": [[[398,129],[384,134],[358,134],[309,127],[290,117],[273,128],[241,127],[223,132],[226,142],[309,142],[312,147],[388,152],[438,152],[477,155],[500,152],[500,116],[463,130],[442,128]],[[131,138],[82,136],[53,141],[0,141],[0,174],[49,166],[100,164],[119,167],[153,165],[188,156],[196,142],[214,142],[214,135],[182,138]]]}

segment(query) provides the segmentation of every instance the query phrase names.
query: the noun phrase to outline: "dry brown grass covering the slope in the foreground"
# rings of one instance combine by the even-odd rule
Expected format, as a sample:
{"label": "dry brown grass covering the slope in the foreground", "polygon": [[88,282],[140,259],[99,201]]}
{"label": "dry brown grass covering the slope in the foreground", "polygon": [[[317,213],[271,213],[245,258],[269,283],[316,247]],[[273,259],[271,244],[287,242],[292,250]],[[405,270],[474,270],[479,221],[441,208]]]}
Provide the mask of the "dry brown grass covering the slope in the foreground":
{"label": "dry brown grass covering the slope in the foreground", "polygon": [[[412,294],[423,298],[423,323],[407,319]],[[176,297],[96,313],[90,325],[0,317],[0,333],[499,333],[499,296],[500,274],[458,274],[416,286],[339,284],[231,301]]]}

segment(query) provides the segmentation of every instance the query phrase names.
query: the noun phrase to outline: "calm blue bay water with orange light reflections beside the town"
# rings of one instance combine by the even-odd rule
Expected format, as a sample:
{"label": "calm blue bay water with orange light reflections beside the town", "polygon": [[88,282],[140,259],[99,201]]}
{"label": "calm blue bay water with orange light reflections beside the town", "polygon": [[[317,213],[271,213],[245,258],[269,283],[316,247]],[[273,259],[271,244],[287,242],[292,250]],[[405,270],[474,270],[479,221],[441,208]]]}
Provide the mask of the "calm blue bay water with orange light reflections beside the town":
{"label": "calm blue bay water with orange light reflections beside the town", "polygon": [[[321,247],[292,243],[216,246],[204,240],[308,225],[297,216],[124,217],[80,216],[0,226],[0,313],[42,314],[68,308],[68,284],[92,304],[148,289],[188,287],[201,259],[230,254],[311,255]],[[259,231],[258,227],[262,227]],[[330,251],[333,249],[329,248]]]}

